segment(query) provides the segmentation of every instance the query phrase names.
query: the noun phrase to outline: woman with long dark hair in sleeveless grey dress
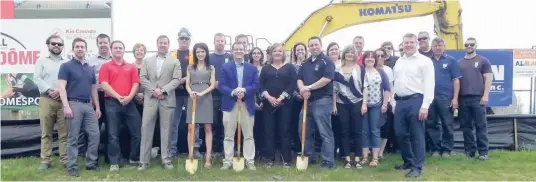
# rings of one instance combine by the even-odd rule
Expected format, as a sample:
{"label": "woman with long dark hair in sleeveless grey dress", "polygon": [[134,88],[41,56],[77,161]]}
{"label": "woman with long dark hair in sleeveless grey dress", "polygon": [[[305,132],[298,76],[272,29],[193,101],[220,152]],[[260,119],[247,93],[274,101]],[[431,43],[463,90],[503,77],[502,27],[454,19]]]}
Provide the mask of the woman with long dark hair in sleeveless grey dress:
{"label": "woman with long dark hair in sleeveless grey dress", "polygon": [[186,71],[186,90],[190,93],[188,98],[188,108],[186,123],[188,123],[188,146],[190,143],[190,134],[194,132],[192,123],[193,100],[197,99],[195,123],[204,124],[205,129],[205,168],[211,168],[212,154],[212,90],[216,87],[215,70],[210,65],[208,56],[208,46],[204,43],[194,45],[194,62],[188,66]]}

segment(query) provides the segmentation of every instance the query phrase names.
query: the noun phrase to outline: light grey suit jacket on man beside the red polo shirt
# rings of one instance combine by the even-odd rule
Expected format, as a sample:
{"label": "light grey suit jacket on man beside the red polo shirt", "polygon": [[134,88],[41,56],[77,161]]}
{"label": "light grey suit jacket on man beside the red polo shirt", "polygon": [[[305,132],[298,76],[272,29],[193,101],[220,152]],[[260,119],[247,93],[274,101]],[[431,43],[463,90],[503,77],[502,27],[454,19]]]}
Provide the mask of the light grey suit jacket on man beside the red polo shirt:
{"label": "light grey suit jacket on man beside the red polo shirt", "polygon": [[[175,88],[179,86],[181,78],[180,62],[174,59],[170,54],[166,55],[160,75],[157,74],[156,56],[153,55],[143,61],[140,69],[140,82],[143,87],[143,96],[145,106],[164,106],[175,107]],[[167,96],[163,100],[153,97],[152,90],[160,88],[166,91]]]}

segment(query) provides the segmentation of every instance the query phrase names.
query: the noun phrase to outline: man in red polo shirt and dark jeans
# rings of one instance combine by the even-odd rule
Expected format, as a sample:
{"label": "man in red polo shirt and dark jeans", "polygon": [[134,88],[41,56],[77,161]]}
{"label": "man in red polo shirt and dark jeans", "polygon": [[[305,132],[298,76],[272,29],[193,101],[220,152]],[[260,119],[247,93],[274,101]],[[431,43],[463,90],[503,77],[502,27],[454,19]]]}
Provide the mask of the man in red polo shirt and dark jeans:
{"label": "man in red polo shirt and dark jeans", "polygon": [[121,160],[119,128],[121,122],[130,130],[130,163],[137,164],[140,158],[141,117],[132,98],[140,84],[138,69],[125,62],[125,44],[113,41],[112,60],[104,63],[99,71],[99,82],[104,89],[106,105],[106,131],[108,131],[108,151],[110,171],[118,171]]}

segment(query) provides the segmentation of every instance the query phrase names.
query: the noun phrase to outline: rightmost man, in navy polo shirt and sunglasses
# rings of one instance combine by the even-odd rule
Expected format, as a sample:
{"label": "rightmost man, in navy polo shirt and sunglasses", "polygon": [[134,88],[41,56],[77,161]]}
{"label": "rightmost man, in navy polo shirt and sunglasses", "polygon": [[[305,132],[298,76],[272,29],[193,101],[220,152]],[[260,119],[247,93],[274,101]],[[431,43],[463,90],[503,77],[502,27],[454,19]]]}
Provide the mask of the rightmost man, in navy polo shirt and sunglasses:
{"label": "rightmost man, in navy polo shirt and sunglasses", "polygon": [[[475,157],[478,150],[478,159],[487,160],[489,143],[486,104],[488,103],[493,73],[489,60],[476,54],[476,48],[476,39],[467,38],[465,57],[458,61],[462,73],[459,119],[466,155]],[[476,144],[473,128],[476,129]]]}

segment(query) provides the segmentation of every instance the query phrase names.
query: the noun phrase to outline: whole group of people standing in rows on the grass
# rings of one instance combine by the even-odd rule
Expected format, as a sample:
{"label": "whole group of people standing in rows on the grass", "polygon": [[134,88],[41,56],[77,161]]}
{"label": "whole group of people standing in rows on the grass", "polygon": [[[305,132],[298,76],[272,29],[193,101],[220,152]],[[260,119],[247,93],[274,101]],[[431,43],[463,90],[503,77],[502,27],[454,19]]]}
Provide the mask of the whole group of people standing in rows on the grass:
{"label": "whole group of people standing in rows on the grass", "polygon": [[[292,144],[300,142],[298,136],[305,127],[304,153],[310,163],[317,163],[315,135],[321,138],[321,169],[335,168],[337,153],[344,168],[378,166],[387,139],[394,133],[404,161],[395,168],[411,169],[406,176],[418,177],[424,166],[425,136],[430,138],[433,156],[451,154],[458,112],[466,154],[474,157],[478,151],[479,159],[488,158],[485,105],[491,67],[476,54],[474,38],[466,40],[467,54],[460,60],[445,54],[439,37],[430,46],[426,32],[404,35],[400,57],[394,55],[391,42],[363,51],[361,36],[342,51],[337,43],[330,43],[324,53],[321,38],[311,37],[307,44],[296,43],[287,60],[278,43],[266,50],[266,56],[259,48],[248,50],[244,35],[236,37],[231,54],[224,50],[222,33],[214,36],[213,53],[205,43],[195,44],[190,51],[190,36],[187,29],[180,30],[176,51],[169,51],[166,35],[159,36],[158,53],[149,57],[145,57],[147,48],[136,44],[133,64],[123,58],[123,42],[111,41],[105,34],[97,36],[99,54],[88,59],[87,42],[74,39],[71,60],[61,56],[63,39],[48,37],[50,55],[37,61],[34,73],[41,93],[39,170],[51,166],[56,122],[60,160],[71,176],[79,176],[76,159],[81,132],[88,139],[86,169],[99,169],[103,123],[110,171],[118,171],[121,163],[122,124],[130,133],[129,163],[143,171],[149,168],[159,123],[162,165],[173,169],[183,107],[188,146],[194,146],[198,158],[203,157],[202,141],[199,127],[194,130],[191,124],[192,113],[196,113],[196,125],[203,127],[206,168],[212,167],[213,151],[224,153],[222,170],[232,167],[237,125],[244,137],[243,149],[237,150],[243,150],[247,169],[256,169],[258,154],[266,160],[266,167],[273,167],[279,157],[276,150],[282,166],[291,168]],[[302,125],[304,119],[307,122]],[[195,140],[190,140],[190,134]],[[255,141],[256,136],[264,140]]]}

